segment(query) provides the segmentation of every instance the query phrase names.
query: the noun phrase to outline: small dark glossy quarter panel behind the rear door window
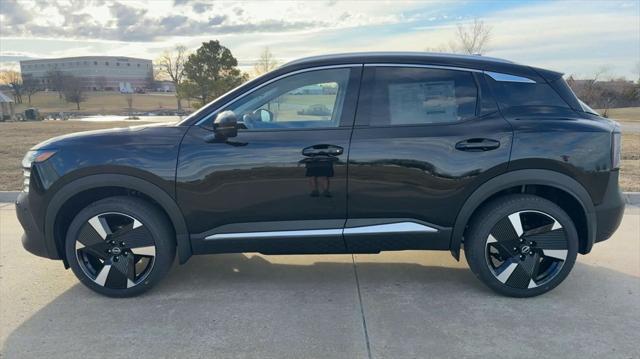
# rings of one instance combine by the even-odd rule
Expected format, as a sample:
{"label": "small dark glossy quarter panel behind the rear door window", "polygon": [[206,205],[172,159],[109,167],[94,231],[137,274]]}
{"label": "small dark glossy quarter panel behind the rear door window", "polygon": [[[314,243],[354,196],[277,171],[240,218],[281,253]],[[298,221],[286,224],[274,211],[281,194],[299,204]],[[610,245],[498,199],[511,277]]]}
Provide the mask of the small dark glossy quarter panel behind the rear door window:
{"label": "small dark glossy quarter panel behind the rear door window", "polygon": [[502,109],[516,106],[569,108],[569,105],[547,83],[496,81],[489,76],[485,76],[485,78]]}

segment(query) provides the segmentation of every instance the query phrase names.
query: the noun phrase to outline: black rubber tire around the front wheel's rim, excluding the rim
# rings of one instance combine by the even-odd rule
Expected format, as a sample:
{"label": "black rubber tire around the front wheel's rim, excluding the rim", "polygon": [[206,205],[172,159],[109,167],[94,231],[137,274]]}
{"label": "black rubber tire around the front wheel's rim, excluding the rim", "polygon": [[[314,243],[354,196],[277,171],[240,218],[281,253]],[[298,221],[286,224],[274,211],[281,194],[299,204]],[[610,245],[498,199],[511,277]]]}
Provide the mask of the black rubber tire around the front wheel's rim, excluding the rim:
{"label": "black rubber tire around the front wheel's rim, excluding the rim", "polygon": [[[142,283],[132,288],[112,289],[100,286],[84,273],[78,263],[75,242],[80,229],[92,217],[106,212],[123,213],[135,218],[146,226],[154,239],[156,256],[151,272]],[[172,231],[163,217],[156,208],[137,198],[113,197],[87,206],[73,219],[65,238],[65,254],[71,270],[82,284],[109,297],[132,297],[149,290],[166,274],[175,257]]]}

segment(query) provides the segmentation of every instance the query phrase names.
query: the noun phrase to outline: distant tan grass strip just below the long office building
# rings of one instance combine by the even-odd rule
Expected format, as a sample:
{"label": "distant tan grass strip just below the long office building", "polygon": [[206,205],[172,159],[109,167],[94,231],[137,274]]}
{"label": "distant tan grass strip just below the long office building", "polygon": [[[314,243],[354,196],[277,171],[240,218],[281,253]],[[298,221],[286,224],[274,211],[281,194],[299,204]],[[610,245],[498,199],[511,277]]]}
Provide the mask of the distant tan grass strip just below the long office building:
{"label": "distant tan grass strip just below the long office building", "polygon": [[[126,113],[129,110],[125,95],[118,92],[86,92],[87,101],[80,103],[80,111],[76,104],[67,103],[60,99],[56,92],[38,92],[31,97],[31,105],[25,103],[16,106],[16,112],[22,112],[29,107],[35,107],[41,113],[48,112],[83,112],[114,115]],[[187,101],[182,101],[185,110]],[[175,110],[178,107],[173,93],[133,94],[133,111]]]}

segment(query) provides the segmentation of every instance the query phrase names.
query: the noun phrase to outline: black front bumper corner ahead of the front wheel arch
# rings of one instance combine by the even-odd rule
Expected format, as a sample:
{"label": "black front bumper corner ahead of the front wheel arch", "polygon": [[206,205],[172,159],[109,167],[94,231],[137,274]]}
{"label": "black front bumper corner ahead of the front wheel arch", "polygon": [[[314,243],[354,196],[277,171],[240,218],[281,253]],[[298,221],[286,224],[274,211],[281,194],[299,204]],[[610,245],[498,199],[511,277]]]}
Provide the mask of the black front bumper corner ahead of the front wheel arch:
{"label": "black front bumper corner ahead of the front wheel arch", "polygon": [[22,235],[22,246],[24,249],[40,257],[60,259],[57,253],[51,255],[44,234],[33,218],[33,212],[29,207],[29,194],[26,192],[21,192],[18,195],[18,199],[16,200],[16,215],[24,229],[24,234]]}

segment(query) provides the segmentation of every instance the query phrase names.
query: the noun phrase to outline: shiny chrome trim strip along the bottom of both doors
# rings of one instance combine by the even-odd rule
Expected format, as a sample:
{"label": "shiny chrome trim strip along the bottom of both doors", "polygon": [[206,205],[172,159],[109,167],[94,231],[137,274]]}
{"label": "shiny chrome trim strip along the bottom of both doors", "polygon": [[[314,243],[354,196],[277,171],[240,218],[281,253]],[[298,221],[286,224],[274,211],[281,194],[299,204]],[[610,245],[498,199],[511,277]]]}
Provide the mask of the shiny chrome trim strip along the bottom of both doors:
{"label": "shiny chrome trim strip along the bottom of both doors", "polygon": [[399,222],[389,224],[377,224],[371,226],[353,228],[309,229],[295,231],[267,231],[267,232],[238,232],[216,233],[205,237],[205,240],[215,239],[241,239],[241,238],[274,238],[274,237],[323,237],[352,234],[379,234],[379,233],[406,233],[424,232],[435,233],[437,229],[415,222]]}

